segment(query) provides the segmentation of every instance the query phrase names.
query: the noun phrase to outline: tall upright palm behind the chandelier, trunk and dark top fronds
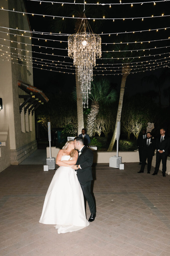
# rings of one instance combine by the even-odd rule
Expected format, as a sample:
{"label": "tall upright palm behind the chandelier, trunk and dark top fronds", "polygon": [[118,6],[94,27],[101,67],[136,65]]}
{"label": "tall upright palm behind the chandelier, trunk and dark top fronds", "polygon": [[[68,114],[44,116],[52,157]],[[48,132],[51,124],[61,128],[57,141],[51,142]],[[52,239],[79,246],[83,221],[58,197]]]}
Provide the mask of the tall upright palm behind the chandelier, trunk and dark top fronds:
{"label": "tall upright palm behind the chandelier, trunk and dark top fronds", "polygon": [[[76,3],[82,3],[82,1],[80,0],[76,0]],[[51,5],[51,4],[47,4],[48,8],[47,10],[50,12],[51,15],[56,15],[56,13],[59,13],[60,16],[66,16],[67,14],[72,17],[73,15],[75,17],[83,17],[84,12],[83,12],[83,5]],[[86,5],[86,14],[88,14],[88,16],[92,16],[91,14],[91,7],[90,5]],[[106,13],[106,12],[105,12]],[[94,8],[93,9],[93,15],[94,16],[101,16],[103,14],[103,8]],[[62,19],[52,19],[51,20],[51,28],[53,29],[54,32],[58,32],[58,31],[64,31],[66,30],[66,28],[71,28],[72,26],[72,30],[74,28],[74,33],[77,33],[79,30],[81,24],[81,19],[65,19],[65,21],[63,22]],[[99,28],[101,26],[101,21],[100,20],[96,20],[96,22],[92,23],[92,26],[95,28]],[[91,27],[92,27],[91,26]],[[71,29],[70,29],[71,30]],[[95,31],[96,32],[96,31]],[[84,127],[84,119],[83,119],[83,103],[82,103],[82,94],[81,94],[81,89],[80,89],[80,82],[78,80],[78,70],[76,68],[76,91],[77,91],[77,122],[78,122],[78,134],[81,133],[82,128]]]}

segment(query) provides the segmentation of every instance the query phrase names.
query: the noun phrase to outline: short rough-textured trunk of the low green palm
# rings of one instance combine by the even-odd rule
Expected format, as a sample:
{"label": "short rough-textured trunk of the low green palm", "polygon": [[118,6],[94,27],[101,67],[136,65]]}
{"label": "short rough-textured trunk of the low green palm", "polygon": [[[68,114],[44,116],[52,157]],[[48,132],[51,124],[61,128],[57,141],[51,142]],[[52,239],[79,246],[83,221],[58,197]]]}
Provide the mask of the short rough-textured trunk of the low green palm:
{"label": "short rough-textured trunk of the low green palm", "polygon": [[94,124],[96,121],[96,115],[99,113],[99,102],[98,101],[93,101],[91,104],[91,111],[87,116],[87,134],[92,137],[93,135],[93,129],[94,129]]}

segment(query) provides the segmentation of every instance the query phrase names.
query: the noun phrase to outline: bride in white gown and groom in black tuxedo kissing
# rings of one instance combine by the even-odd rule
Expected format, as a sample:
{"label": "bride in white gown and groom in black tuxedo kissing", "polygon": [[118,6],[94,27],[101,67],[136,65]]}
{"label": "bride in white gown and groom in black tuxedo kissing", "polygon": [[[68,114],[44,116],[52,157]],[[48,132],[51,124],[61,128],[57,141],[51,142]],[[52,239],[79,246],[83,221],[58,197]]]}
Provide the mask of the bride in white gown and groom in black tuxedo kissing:
{"label": "bride in white gown and groom in black tuxedo kissing", "polygon": [[[58,233],[66,233],[80,230],[94,221],[92,163],[93,152],[84,146],[82,138],[66,142],[56,158],[59,168],[47,190],[40,223],[54,224]],[[89,221],[86,219],[86,200],[91,212]]]}

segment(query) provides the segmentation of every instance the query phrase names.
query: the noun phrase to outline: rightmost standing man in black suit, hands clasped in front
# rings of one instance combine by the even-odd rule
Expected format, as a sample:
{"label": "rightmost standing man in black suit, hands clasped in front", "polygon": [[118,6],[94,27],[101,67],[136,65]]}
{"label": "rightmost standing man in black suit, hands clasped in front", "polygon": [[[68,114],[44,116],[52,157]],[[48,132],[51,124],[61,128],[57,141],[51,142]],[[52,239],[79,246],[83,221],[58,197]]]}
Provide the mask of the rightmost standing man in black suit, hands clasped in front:
{"label": "rightmost standing man in black suit, hands clasped in front", "polygon": [[158,136],[156,139],[156,165],[155,171],[152,175],[157,175],[159,171],[159,166],[162,160],[162,175],[165,177],[166,172],[166,160],[168,156],[169,149],[169,137],[165,135],[165,129],[160,129],[161,136]]}

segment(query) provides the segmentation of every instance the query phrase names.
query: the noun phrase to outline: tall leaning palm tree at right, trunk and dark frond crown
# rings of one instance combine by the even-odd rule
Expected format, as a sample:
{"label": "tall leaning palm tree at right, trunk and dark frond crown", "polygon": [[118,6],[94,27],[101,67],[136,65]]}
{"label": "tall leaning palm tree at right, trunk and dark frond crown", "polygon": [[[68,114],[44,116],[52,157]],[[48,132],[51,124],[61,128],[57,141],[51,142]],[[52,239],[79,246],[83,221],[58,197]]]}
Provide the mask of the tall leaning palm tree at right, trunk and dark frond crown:
{"label": "tall leaning palm tree at right, trunk and dark frond crown", "polygon": [[[124,40],[126,40],[127,42],[130,42],[130,41],[134,40],[134,37],[132,40],[129,37],[124,38]],[[136,41],[138,41],[138,40],[136,40]],[[110,63],[114,62],[114,60],[112,59],[113,56],[114,56],[114,58],[115,57],[123,58],[123,59],[117,60],[118,63],[122,63],[122,81],[121,81],[121,85],[120,85],[120,97],[119,97],[119,104],[118,104],[118,109],[117,109],[115,129],[114,129],[112,140],[110,142],[110,145],[109,145],[107,151],[113,150],[113,146],[114,146],[114,143],[116,140],[116,135],[117,135],[117,122],[120,122],[121,114],[122,114],[122,105],[123,105],[123,97],[124,97],[124,92],[125,92],[126,79],[131,71],[130,63],[134,62],[136,59],[136,56],[134,56],[133,51],[130,51],[130,50],[139,50],[142,48],[142,47],[139,47],[139,44],[133,44],[133,45],[132,44],[120,44],[121,41],[123,41],[123,40],[121,40],[120,38],[115,40],[115,42],[119,43],[119,44],[113,45],[112,50],[114,50],[114,54],[113,54],[113,52],[105,52],[105,54],[103,54],[104,58],[108,58],[107,62],[110,62]],[[122,53],[122,51],[123,51],[123,53]],[[138,52],[138,56],[140,54],[142,54],[141,51]],[[130,58],[130,57],[133,57],[133,58]]]}

